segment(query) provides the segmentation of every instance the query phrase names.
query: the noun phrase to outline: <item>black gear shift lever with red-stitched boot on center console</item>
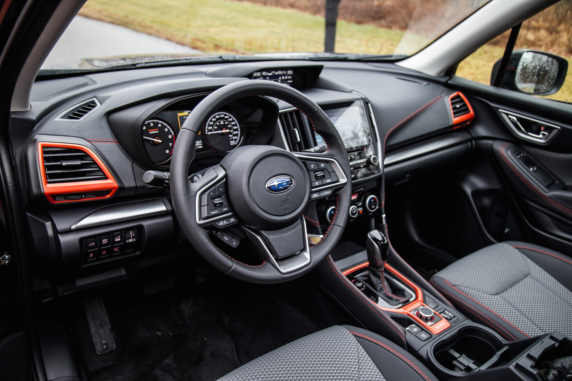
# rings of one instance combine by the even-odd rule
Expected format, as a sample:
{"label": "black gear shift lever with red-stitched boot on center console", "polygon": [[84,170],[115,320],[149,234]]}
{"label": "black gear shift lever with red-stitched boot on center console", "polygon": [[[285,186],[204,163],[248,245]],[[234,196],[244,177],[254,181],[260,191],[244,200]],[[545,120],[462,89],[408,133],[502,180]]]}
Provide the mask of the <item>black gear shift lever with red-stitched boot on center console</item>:
{"label": "black gear shift lever with red-stitched boot on center console", "polygon": [[390,243],[386,236],[379,230],[372,230],[367,233],[367,260],[368,266],[367,283],[389,304],[399,304],[406,298],[394,295],[390,285],[384,275],[387,257],[390,252]]}

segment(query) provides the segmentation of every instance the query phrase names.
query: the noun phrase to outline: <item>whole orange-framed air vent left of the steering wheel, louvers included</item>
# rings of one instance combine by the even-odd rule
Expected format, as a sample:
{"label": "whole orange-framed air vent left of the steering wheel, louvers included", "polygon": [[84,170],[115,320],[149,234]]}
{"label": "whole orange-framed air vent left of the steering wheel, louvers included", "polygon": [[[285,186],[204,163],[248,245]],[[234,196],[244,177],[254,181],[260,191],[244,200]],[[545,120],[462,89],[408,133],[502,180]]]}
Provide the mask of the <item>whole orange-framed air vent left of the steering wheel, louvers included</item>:
{"label": "whole orange-framed air vent left of the steering wheel, louvers included", "polygon": [[38,142],[43,193],[52,204],[109,199],[119,186],[89,148],[79,144]]}

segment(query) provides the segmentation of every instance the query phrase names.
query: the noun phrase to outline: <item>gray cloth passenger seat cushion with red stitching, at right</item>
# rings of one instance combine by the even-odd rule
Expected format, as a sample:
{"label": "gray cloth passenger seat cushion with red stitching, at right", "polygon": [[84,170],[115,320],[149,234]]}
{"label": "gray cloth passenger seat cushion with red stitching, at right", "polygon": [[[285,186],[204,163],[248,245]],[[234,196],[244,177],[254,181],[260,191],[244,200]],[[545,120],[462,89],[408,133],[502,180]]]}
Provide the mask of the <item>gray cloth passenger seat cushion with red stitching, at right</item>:
{"label": "gray cloth passenger seat cushion with red stitching, at right", "polygon": [[431,284],[508,340],[554,331],[572,338],[572,258],[562,253],[506,241],[455,261]]}

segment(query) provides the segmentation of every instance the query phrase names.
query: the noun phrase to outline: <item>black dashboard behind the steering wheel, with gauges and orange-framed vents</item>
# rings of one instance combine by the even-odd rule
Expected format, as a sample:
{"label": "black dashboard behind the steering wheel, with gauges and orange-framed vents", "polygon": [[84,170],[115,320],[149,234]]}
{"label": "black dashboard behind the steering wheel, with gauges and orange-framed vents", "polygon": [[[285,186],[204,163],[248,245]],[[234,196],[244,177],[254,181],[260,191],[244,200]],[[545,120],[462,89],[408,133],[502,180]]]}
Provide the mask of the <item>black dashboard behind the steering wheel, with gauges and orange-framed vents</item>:
{"label": "black dashboard behind the steering wheel, with gauges and orange-framed vents", "polygon": [[[208,94],[252,79],[281,82],[311,98],[336,126],[347,149],[351,179],[340,178],[327,163],[320,168],[319,162],[304,161],[312,180],[304,213],[310,244],[323,237],[333,218],[330,184],[351,181],[349,224],[377,216],[383,205],[384,150],[400,150],[415,144],[416,137],[458,127],[450,103],[454,92],[392,64],[221,63],[38,81],[32,98],[42,101],[33,102],[28,112],[13,113],[11,122],[18,192],[33,237],[29,245],[35,271],[57,277],[63,295],[87,287],[65,279],[112,270],[121,277],[134,262],[188,252],[190,244],[177,227],[168,189],[178,132]],[[388,138],[396,124],[428,102],[423,118],[412,118]],[[464,116],[465,124],[467,120]],[[272,97],[244,97],[217,110],[201,126],[190,180],[219,165],[237,147],[256,144],[274,145],[299,157],[327,149],[294,106]],[[162,174],[159,186],[144,181],[149,170]],[[215,204],[206,213],[232,207],[222,185],[213,183],[210,201]],[[217,187],[223,196],[216,197]],[[212,229],[213,240],[226,244],[233,257],[248,263],[243,256],[252,253],[252,245],[240,229],[226,226],[240,221],[223,216],[205,220],[205,228]]]}

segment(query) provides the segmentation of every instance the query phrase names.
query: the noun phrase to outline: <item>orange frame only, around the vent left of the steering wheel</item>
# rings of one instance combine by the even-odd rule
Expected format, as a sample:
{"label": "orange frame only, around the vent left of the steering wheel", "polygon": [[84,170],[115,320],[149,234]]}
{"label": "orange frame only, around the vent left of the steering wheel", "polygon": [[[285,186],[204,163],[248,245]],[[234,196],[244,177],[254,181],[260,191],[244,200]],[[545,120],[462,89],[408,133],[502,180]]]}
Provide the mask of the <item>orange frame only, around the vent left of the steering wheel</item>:
{"label": "orange frame only, around the vent left of the steering wheel", "polygon": [[[48,184],[47,177],[46,177],[46,168],[43,164],[43,147],[61,147],[61,148],[72,148],[72,149],[80,149],[87,153],[90,157],[92,157],[93,161],[96,162],[98,166],[100,166],[102,172],[107,176],[107,180],[92,180],[92,181],[76,181],[76,182],[58,182],[57,184]],[[64,204],[64,203],[77,203],[78,201],[86,201],[86,200],[101,200],[101,199],[109,199],[109,197],[113,196],[119,185],[117,185],[117,181],[113,178],[111,172],[107,166],[105,166],[104,162],[95,154],[91,149],[86,146],[79,145],[79,144],[70,144],[70,143],[53,143],[53,142],[38,142],[38,160],[39,160],[39,169],[40,174],[42,177],[42,185],[43,185],[43,193],[46,195],[47,200],[50,201],[52,204]],[[90,199],[81,199],[81,200],[64,200],[64,201],[55,201],[55,195],[68,195],[70,193],[85,193],[85,192],[96,192],[99,190],[109,190],[109,193],[106,196],[101,197],[91,197]]]}

